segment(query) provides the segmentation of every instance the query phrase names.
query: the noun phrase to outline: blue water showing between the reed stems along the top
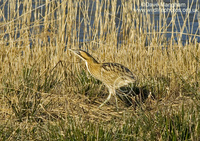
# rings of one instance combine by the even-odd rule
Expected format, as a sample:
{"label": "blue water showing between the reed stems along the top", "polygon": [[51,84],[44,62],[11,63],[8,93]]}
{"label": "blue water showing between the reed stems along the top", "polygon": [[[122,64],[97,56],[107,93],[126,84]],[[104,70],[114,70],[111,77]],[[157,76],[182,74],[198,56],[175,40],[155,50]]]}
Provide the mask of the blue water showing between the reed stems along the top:
{"label": "blue water showing between the reed stems along the top", "polygon": [[[112,0],[110,0],[110,2],[111,1]],[[54,4],[59,5],[60,3],[62,3],[62,0],[53,1],[53,2],[54,2]],[[90,40],[93,40],[92,37],[88,36],[89,34],[85,34],[85,37],[84,37],[85,27],[87,27],[87,29],[89,29],[89,26],[91,26],[91,28],[93,28],[95,26],[94,25],[94,17],[95,17],[95,10],[96,10],[96,7],[95,7],[96,1],[89,0],[87,2],[89,2],[89,5],[90,5],[90,7],[88,9],[88,14],[89,14],[89,17],[90,17],[90,21],[89,21],[90,23],[85,25],[84,22],[82,22],[81,25],[80,25],[80,32],[79,32],[79,42],[83,42],[83,43],[90,41]],[[105,1],[99,0],[99,2],[100,3],[104,2],[104,7],[106,8]],[[180,8],[178,10],[180,10],[181,12],[177,12],[177,15],[174,17],[175,27],[174,27],[174,30],[173,30],[173,32],[174,32],[173,37],[174,37],[175,41],[178,41],[179,39],[181,39],[181,42],[183,44],[185,44],[189,40],[191,40],[191,41],[196,40],[197,42],[200,42],[200,26],[199,26],[199,22],[200,22],[200,10],[199,10],[200,9],[200,1],[194,0],[193,4],[191,2],[192,2],[192,0],[189,0],[189,1],[179,0],[179,2],[173,3],[173,2],[170,2],[170,0],[164,0],[162,3],[160,3],[161,5],[164,6],[164,8],[162,9],[162,11],[159,11],[158,3],[155,0],[154,1],[153,0],[146,0],[145,2],[140,2],[139,5],[134,5],[132,7],[132,11],[129,11],[129,12],[143,13],[142,14],[143,16],[146,16],[147,13],[150,14],[151,19],[152,19],[151,22],[155,22],[154,29],[157,30],[158,32],[159,31],[164,32],[162,30],[162,26],[166,22],[166,24],[168,25],[168,27],[167,27],[168,33],[165,33],[165,36],[166,36],[167,40],[170,40],[171,37],[172,37],[171,32],[172,32],[172,29],[173,29],[173,27],[172,27],[173,24],[171,23],[171,20],[172,20],[172,17],[173,17],[173,12],[170,10],[170,6],[172,6],[172,4],[173,5],[179,4]],[[83,6],[85,3],[86,3],[86,0],[82,2],[82,5],[78,5],[78,6],[79,7]],[[36,5],[36,2],[34,2],[34,1],[32,2],[31,22],[34,22],[35,20],[38,20],[38,19],[41,19],[41,22],[43,21],[43,17],[45,16],[45,10],[46,10],[45,4],[46,4],[45,0],[43,0],[43,1],[40,0],[40,3],[37,3],[37,5]],[[115,25],[114,25],[114,26],[116,26],[116,29],[118,29],[118,34],[119,34],[118,44],[119,45],[121,43],[120,32],[122,30],[122,28],[121,28],[122,19],[120,19],[120,17],[121,17],[120,15],[123,12],[122,11],[122,4],[123,3],[121,2],[121,0],[117,0],[117,3],[116,3],[117,8],[116,9],[119,9],[119,10],[116,13],[116,19],[115,19]],[[0,9],[2,10],[3,16],[4,16],[4,18],[3,18],[3,16],[0,16],[0,21],[6,20],[7,22],[9,22],[10,19],[8,19],[8,17],[7,17],[7,15],[8,15],[8,5],[9,5],[8,1],[4,1],[4,0],[0,1]],[[19,11],[18,11],[19,16],[23,16],[22,15],[22,13],[23,13],[22,12],[23,11],[23,3],[16,3],[16,5],[17,5],[17,7],[19,7]],[[48,6],[50,6],[50,4]],[[154,8],[154,11],[152,11],[152,7]],[[108,8],[111,9],[111,6],[108,7]],[[188,12],[188,8],[191,9],[190,12]],[[35,10],[37,10],[38,12],[41,13],[41,15],[40,15],[40,17],[38,17],[38,19],[34,18]],[[104,11],[104,10],[102,10],[102,11]],[[65,13],[67,14],[67,12],[68,11],[66,9]],[[77,13],[79,13],[79,11],[77,11]],[[189,13],[189,15],[188,15],[188,13]],[[199,17],[198,17],[198,13],[199,13]],[[103,13],[103,12],[101,13],[102,16],[104,16],[104,14],[105,13]],[[166,17],[168,16],[167,20],[162,21],[163,19],[162,19],[162,16],[160,14],[165,14]],[[112,13],[110,13],[110,15],[112,16]],[[55,10],[54,16],[56,17],[56,10]],[[80,16],[80,19],[79,19],[79,16]],[[180,38],[179,33],[182,30],[182,26],[184,25],[184,20],[186,18],[187,18],[187,21],[185,22],[185,26],[184,26],[185,28],[183,29],[184,34]],[[81,13],[81,15],[77,14],[76,19],[77,19],[77,23],[82,21],[84,19],[82,13]],[[161,27],[157,24],[157,23],[159,23],[160,20],[162,21]],[[135,23],[137,22],[135,19],[132,19],[132,21],[135,22]],[[142,28],[142,26],[143,25],[140,25],[141,28]],[[42,28],[43,28],[43,25],[40,26],[41,30],[42,30]],[[147,30],[151,31],[151,29],[147,29]],[[30,25],[30,33],[32,33],[32,32],[33,31],[32,31],[31,25]],[[88,30],[88,32],[89,32],[89,30]],[[20,36],[18,33],[16,33],[16,34],[17,34],[16,38]],[[99,36],[99,34],[100,33],[98,32],[98,36]],[[64,35],[67,35],[67,34],[64,33]],[[9,36],[9,35],[7,35],[7,36]],[[148,35],[148,36],[150,36],[150,35]],[[49,38],[49,41],[50,41],[50,38]],[[67,37],[66,37],[66,44],[67,44]]]}

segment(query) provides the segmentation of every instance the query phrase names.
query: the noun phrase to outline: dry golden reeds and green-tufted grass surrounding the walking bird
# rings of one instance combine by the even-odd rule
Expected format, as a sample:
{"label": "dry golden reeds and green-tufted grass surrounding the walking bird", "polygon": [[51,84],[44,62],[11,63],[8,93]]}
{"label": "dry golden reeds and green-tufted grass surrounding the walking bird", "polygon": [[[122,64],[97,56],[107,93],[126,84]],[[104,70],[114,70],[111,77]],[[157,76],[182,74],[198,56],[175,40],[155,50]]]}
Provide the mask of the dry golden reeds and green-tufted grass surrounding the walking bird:
{"label": "dry golden reeds and green-tufted grass surrounding the walking bird", "polygon": [[[133,12],[137,2],[122,1],[121,12],[116,3],[2,3],[2,140],[199,140],[200,44],[190,38],[183,45],[182,35],[191,33],[173,32],[178,13],[170,23],[161,14],[157,30],[148,13]],[[167,40],[169,25],[174,36]],[[79,46],[100,62],[127,66],[138,79],[133,90],[146,99],[130,97],[136,104],[129,107],[120,100],[119,112],[114,99],[98,109],[108,90],[66,49]]]}

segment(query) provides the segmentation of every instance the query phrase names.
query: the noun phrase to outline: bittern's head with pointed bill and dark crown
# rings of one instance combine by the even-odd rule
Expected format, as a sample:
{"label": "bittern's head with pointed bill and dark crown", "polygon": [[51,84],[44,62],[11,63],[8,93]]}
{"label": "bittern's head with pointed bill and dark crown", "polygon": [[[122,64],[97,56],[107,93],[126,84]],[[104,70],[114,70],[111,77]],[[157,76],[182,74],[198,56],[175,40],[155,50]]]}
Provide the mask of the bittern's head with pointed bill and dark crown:
{"label": "bittern's head with pointed bill and dark crown", "polygon": [[89,53],[80,49],[69,49],[86,62],[98,63]]}

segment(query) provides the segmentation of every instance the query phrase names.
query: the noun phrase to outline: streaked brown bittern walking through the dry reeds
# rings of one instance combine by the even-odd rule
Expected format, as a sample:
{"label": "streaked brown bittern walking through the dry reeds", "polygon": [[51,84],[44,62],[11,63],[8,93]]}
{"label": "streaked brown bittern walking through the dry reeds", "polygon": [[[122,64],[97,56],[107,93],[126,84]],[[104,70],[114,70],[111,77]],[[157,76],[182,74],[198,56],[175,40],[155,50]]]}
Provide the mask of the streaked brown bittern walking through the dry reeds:
{"label": "streaked brown bittern walking through the dry reeds", "polygon": [[109,101],[111,95],[115,97],[116,108],[118,109],[116,89],[133,83],[136,78],[126,67],[118,63],[99,63],[89,53],[83,50],[69,49],[85,61],[89,73],[96,79],[102,81],[109,90],[107,99],[99,106],[102,107]]}

